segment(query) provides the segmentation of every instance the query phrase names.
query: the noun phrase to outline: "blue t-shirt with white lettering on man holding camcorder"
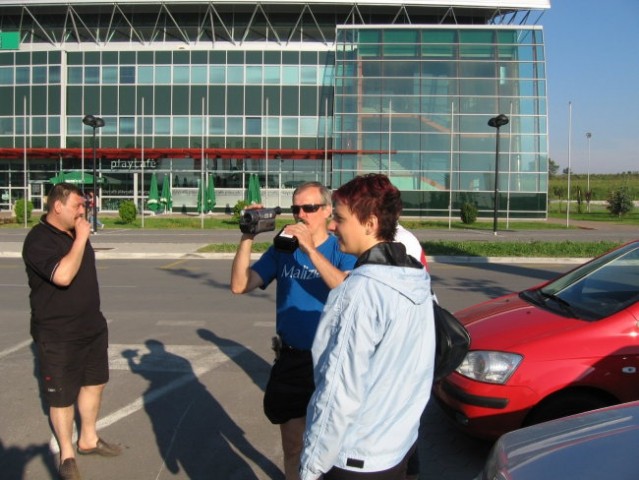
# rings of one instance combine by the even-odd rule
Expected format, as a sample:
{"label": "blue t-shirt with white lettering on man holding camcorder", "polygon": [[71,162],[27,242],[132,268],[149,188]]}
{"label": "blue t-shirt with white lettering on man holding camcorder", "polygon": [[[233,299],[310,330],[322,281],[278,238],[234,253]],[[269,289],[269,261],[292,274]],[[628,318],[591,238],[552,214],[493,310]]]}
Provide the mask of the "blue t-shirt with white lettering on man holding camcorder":
{"label": "blue t-shirt with white lettering on man holding camcorder", "polygon": [[[352,270],[357,260],[340,251],[333,235],[317,250],[342,271]],[[271,246],[251,268],[264,281],[263,288],[277,280],[275,328],[282,341],[310,350],[330,289],[308,255],[299,248],[284,253]]]}

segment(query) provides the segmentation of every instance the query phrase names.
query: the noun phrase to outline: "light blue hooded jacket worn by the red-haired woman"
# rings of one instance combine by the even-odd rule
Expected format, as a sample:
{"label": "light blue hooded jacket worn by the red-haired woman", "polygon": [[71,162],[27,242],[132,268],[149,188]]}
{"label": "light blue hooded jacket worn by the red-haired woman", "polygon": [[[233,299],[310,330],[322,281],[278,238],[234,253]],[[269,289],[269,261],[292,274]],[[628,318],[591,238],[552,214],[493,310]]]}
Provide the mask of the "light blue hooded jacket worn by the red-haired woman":
{"label": "light blue hooded jacket worn by the red-haired woman", "polygon": [[302,480],[402,461],[430,398],[432,301],[424,268],[364,264],[331,291],[313,342]]}

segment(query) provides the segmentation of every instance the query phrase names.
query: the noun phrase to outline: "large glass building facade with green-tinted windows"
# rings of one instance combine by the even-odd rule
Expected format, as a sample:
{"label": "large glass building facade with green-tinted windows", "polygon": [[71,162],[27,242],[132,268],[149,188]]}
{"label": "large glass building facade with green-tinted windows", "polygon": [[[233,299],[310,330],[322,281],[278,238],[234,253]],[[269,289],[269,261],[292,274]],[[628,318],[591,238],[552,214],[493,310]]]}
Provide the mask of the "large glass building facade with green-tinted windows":
{"label": "large glass building facade with green-tinted windows", "polygon": [[[106,211],[123,200],[142,207],[152,173],[170,182],[174,210],[189,212],[209,176],[216,211],[224,211],[243,198],[252,173],[268,206],[287,206],[303,181],[335,188],[382,172],[402,191],[408,215],[458,216],[471,201],[490,216],[498,171],[500,215],[545,218],[541,27],[474,24],[489,22],[472,9],[465,12],[473,24],[437,25],[428,8],[415,13],[419,25],[398,25],[381,7],[362,15],[368,24],[352,25],[353,7],[343,7],[343,18],[336,7],[311,21],[300,5],[299,17],[262,11],[266,21],[255,23],[247,10],[232,16],[243,29],[216,11],[228,28],[209,32],[205,45],[191,41],[206,33],[202,12],[184,13],[183,28],[176,19],[160,30],[148,27],[151,17],[136,17],[135,34],[113,28],[109,41],[97,33],[104,14],[90,7],[86,31],[69,43],[61,39],[73,29],[58,27],[61,17],[48,11],[58,32],[47,35],[58,37],[21,23],[18,48],[0,49],[0,209],[25,188],[42,208],[49,179],[91,173],[96,148]],[[132,42],[136,35],[148,38]],[[496,168],[496,131],[487,122],[499,113],[510,123],[500,131]],[[105,121],[95,143],[85,114]]]}

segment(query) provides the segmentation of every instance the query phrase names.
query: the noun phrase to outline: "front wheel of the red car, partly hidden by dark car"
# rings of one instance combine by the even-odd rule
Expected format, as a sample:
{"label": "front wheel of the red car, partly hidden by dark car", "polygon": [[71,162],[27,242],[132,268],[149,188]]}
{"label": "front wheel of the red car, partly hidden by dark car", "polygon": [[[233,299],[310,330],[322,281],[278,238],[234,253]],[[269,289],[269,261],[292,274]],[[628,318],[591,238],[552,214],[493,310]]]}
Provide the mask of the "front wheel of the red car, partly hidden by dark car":
{"label": "front wheel of the red car, partly hidden by dark car", "polygon": [[616,402],[594,393],[563,392],[549,397],[537,405],[528,414],[523,426],[607,407],[614,403]]}

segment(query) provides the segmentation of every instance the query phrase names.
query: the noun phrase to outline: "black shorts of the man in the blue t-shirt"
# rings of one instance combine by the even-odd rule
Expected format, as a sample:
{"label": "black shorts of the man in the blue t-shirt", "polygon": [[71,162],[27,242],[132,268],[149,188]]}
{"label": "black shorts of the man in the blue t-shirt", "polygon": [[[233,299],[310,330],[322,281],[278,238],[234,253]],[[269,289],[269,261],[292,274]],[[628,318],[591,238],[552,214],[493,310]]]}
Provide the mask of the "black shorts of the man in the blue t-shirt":
{"label": "black shorts of the man in the blue t-shirt", "polygon": [[273,424],[306,416],[315,390],[310,350],[283,348],[273,364],[264,393],[264,413]]}

